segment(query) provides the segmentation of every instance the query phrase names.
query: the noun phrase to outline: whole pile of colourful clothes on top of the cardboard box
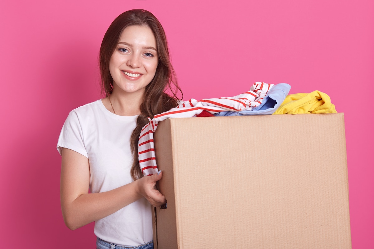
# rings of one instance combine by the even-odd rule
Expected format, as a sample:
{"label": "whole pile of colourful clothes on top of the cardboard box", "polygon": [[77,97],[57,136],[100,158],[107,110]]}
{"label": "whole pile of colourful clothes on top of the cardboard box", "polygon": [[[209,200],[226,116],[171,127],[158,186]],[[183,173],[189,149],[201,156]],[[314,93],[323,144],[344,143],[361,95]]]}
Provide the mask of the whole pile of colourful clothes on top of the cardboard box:
{"label": "whole pile of colourful clothes on top of the cardboard box", "polygon": [[330,97],[320,91],[288,94],[289,84],[254,83],[250,90],[234,97],[190,99],[181,101],[176,108],[148,118],[139,137],[139,164],[144,175],[158,172],[154,152],[153,133],[159,121],[167,118],[198,116],[240,116],[300,113],[336,113]]}

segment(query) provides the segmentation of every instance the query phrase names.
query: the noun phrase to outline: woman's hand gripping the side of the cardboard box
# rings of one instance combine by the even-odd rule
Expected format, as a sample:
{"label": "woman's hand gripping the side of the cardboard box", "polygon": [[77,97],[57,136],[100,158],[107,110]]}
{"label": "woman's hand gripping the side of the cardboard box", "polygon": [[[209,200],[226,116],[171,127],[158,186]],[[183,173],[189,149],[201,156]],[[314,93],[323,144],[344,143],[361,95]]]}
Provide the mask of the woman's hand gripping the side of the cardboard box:
{"label": "woman's hand gripping the side of the cardboard box", "polygon": [[146,175],[137,182],[137,192],[145,197],[151,205],[155,207],[160,207],[166,203],[165,196],[160,193],[159,190],[155,189],[156,182],[162,177],[162,172],[159,171],[159,174]]}

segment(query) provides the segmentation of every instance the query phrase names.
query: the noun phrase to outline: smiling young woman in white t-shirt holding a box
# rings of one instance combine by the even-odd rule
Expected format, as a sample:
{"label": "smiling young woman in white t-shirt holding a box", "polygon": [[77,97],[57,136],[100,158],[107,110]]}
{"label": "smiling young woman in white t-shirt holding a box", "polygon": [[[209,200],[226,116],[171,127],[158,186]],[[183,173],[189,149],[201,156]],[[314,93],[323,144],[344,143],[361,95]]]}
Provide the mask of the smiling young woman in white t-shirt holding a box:
{"label": "smiling young woman in white t-shirt holding a box", "polygon": [[141,9],[119,15],[99,65],[105,98],[71,111],[58,140],[62,215],[73,230],[95,221],[99,249],[153,248],[151,205],[166,199],[154,189],[162,172],[142,177],[138,139],[148,117],[178,105],[180,91],[157,18]]}

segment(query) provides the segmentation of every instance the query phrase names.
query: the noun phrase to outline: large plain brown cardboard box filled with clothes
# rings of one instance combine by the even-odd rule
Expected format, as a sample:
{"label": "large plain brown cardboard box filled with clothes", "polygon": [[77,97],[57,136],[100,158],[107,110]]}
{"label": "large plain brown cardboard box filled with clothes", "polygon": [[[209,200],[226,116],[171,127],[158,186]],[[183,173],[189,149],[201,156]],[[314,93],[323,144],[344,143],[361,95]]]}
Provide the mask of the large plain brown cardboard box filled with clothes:
{"label": "large plain brown cardboard box filled with clothes", "polygon": [[154,140],[155,248],[352,248],[343,113],[174,118]]}

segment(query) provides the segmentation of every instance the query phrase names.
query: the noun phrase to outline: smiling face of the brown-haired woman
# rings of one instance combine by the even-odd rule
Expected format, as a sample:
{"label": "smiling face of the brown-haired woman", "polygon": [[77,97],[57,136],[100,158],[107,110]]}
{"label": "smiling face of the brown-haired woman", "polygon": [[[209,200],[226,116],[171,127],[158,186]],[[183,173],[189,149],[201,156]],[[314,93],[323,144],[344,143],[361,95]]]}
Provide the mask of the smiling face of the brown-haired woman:
{"label": "smiling face of the brown-haired woman", "polygon": [[113,91],[143,94],[156,73],[158,62],[156,38],[151,29],[125,28],[109,61]]}

